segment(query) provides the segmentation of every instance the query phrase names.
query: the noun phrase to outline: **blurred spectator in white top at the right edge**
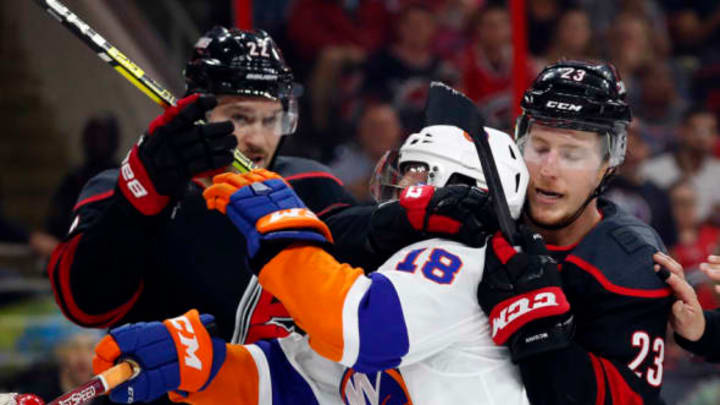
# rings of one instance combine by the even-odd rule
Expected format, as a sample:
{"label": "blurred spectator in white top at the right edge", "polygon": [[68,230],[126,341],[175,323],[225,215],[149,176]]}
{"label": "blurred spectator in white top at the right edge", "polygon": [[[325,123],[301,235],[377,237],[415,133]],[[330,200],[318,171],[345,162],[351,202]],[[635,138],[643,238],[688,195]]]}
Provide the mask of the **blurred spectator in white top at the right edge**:
{"label": "blurred spectator in white top at the right edge", "polygon": [[697,192],[700,222],[720,209],[720,160],[712,156],[717,137],[715,115],[702,107],[693,108],[685,114],[678,128],[677,148],[651,159],[641,168],[647,179],[664,189],[687,177]]}

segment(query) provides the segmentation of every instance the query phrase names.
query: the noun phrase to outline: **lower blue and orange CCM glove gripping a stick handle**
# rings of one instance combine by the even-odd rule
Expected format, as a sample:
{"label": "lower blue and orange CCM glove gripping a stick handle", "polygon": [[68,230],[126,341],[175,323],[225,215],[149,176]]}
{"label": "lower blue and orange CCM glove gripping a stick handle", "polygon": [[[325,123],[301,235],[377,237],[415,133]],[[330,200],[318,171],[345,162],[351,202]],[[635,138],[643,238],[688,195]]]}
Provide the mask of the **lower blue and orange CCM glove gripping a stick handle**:
{"label": "lower blue and orange CCM glove gripping a stick handle", "polygon": [[212,315],[192,309],[163,322],[111,329],[95,347],[93,371],[99,374],[128,358],[140,365],[140,374],[110,392],[113,402],[148,402],[171,391],[176,391],[174,398],[202,391],[225,361],[225,342],[210,337],[206,329],[213,321]]}

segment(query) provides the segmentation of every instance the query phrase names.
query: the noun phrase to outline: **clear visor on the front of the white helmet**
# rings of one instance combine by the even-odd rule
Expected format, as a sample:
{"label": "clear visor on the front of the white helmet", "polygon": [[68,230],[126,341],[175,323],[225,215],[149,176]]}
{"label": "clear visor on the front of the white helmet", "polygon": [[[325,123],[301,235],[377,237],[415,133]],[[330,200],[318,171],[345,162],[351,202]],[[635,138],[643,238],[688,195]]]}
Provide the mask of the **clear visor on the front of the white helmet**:
{"label": "clear visor on the front of the white helmet", "polygon": [[378,203],[397,200],[409,186],[427,184],[429,168],[422,162],[399,164],[396,150],[385,152],[370,178],[370,194]]}

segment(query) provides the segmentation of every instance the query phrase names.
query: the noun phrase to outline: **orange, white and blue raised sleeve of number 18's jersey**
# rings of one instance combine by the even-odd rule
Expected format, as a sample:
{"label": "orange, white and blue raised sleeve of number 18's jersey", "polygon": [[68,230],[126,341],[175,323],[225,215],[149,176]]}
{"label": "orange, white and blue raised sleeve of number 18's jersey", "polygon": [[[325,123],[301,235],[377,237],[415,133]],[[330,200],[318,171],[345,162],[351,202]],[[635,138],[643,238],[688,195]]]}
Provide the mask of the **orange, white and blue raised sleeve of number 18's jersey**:
{"label": "orange, white and blue raised sleeve of number 18's jersey", "polygon": [[259,280],[323,357],[367,372],[396,367],[408,352],[399,298],[381,274],[366,277],[319,247],[296,244],[268,262]]}

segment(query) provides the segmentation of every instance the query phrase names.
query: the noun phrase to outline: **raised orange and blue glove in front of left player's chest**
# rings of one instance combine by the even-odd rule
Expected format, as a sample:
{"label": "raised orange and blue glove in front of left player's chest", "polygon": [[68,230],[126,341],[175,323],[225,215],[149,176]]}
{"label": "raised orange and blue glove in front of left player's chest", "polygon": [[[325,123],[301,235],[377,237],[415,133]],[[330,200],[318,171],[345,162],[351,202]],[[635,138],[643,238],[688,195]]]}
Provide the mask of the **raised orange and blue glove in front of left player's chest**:
{"label": "raised orange and blue glove in front of left player's chest", "polygon": [[203,197],[208,209],[227,214],[243,234],[255,274],[292,242],[333,241],[327,225],[277,173],[223,173],[213,178]]}

